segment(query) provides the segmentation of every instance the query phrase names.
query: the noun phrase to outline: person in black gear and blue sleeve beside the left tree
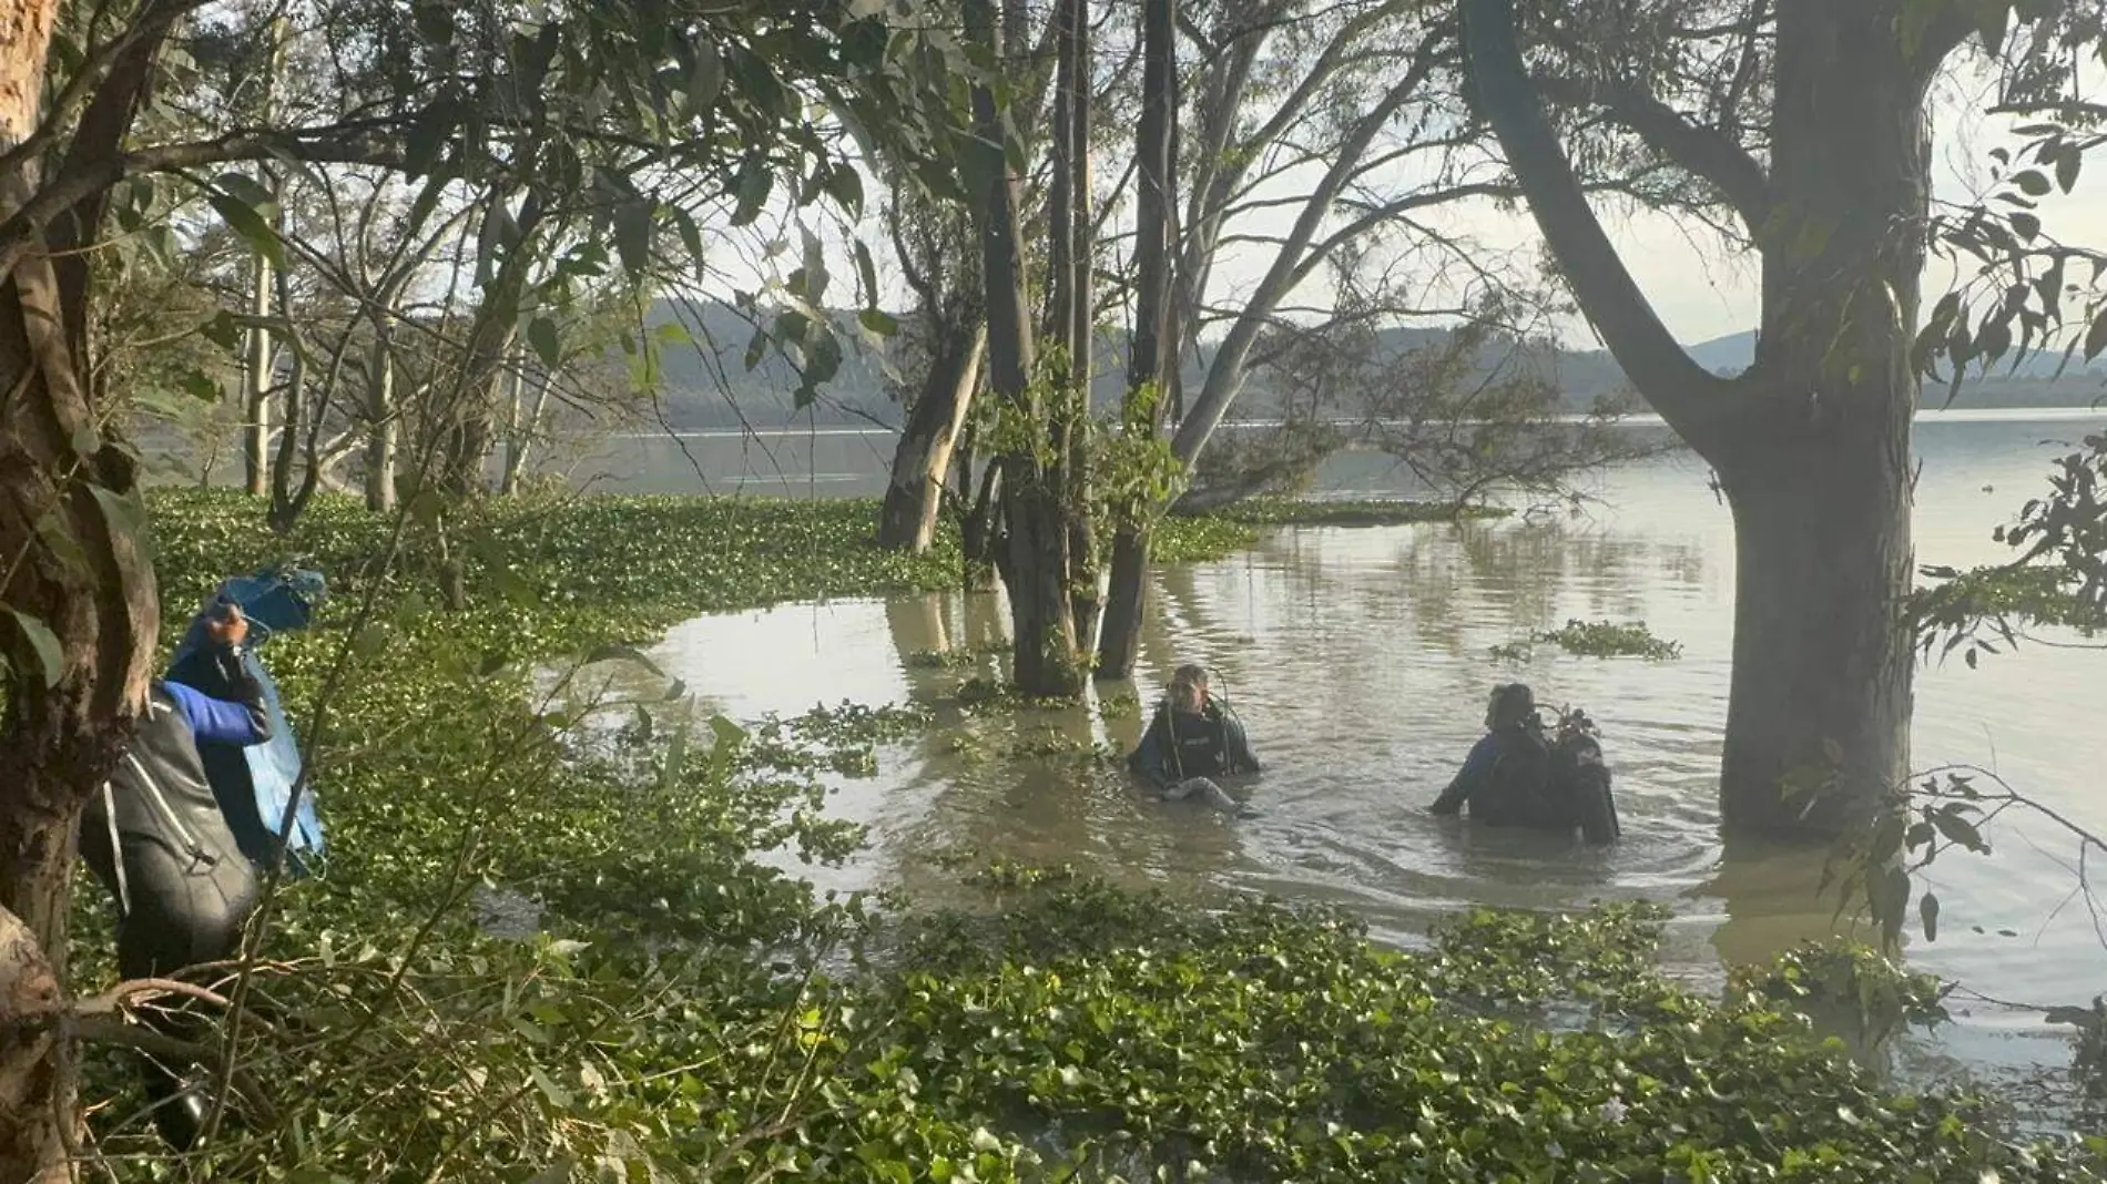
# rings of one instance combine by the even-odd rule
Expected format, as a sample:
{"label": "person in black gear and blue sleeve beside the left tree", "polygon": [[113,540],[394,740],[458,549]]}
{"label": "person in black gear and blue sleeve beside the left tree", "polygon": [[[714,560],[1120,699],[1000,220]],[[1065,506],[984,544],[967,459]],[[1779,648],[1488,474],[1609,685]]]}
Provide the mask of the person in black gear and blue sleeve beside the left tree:
{"label": "person in black gear and blue sleeve beside the left tree", "polygon": [[[131,748],[80,820],[80,853],[118,906],[118,973],[129,980],[232,956],[257,902],[255,868],[219,813],[198,742],[261,744],[270,716],[263,689],[242,670],[249,621],[240,609],[230,605],[209,634],[204,659],[234,697],[154,683]],[[194,1026],[179,1009],[156,1011],[154,1024],[169,1034]],[[141,1074],[162,1138],[192,1146],[202,1093],[152,1058],[141,1058]]]}

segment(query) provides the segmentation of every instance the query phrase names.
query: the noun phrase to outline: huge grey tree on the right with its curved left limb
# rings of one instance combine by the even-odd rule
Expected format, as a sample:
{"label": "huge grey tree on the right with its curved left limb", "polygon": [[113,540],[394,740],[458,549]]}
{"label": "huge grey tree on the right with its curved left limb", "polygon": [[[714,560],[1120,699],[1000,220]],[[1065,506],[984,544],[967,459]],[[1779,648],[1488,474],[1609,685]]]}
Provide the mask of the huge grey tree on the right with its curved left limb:
{"label": "huge grey tree on the right with its curved left limb", "polygon": [[[1970,36],[2006,51],[2014,4],[1559,6],[1521,29],[1511,0],[1460,13],[1475,101],[1559,270],[1734,512],[1724,822],[1835,830],[1907,773],[1913,653],[1896,605],[1911,588],[1928,91]],[[1639,293],[1547,118],[1521,32],[1574,67],[1544,91],[1601,107],[1734,211],[1764,265],[1757,358],[1740,377],[1698,367]],[[1810,784],[1835,792],[1787,801]]]}

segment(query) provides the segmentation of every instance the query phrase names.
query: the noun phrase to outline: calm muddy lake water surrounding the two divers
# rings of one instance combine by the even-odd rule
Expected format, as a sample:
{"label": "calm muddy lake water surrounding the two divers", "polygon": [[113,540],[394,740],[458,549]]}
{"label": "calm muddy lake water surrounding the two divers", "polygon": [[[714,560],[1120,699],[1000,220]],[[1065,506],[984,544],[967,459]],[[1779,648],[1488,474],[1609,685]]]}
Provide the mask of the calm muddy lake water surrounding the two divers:
{"label": "calm muddy lake water surrounding the two divers", "polygon": [[[2099,428],[2088,413],[1928,415],[1917,432],[1919,563],[2004,558],[1995,525],[2035,495],[2054,451]],[[879,432],[632,438],[577,466],[630,491],[744,489],[868,495],[883,489]],[[708,474],[704,482],[700,474]],[[1327,495],[1395,495],[1382,457],[1336,459]],[[1582,514],[1473,525],[1281,529],[1222,563],[1155,573],[1142,697],[1178,662],[1226,685],[1266,771],[1256,817],[1157,805],[1117,771],[1005,756],[1041,731],[1127,750],[1140,718],[1098,710],[1020,721],[961,718],[959,672],[908,664],[923,649],[999,638],[995,596],[786,605],[702,617],[657,649],[704,710],[794,714],[818,702],[923,702],[957,727],[881,750],[874,777],[841,780],[834,809],[870,824],[870,849],[826,887],[904,887],[952,900],[950,851],[1072,862],[1123,883],[1249,889],[1338,902],[1374,933],[1412,944],[1431,916],[1469,904],[1563,908],[1648,897],[1675,908],[1669,963],[1707,980],[1831,931],[1816,895],[1820,853],[1724,849],[1715,769],[1732,630],[1732,520],[1688,453],[1603,474]],[[1538,647],[1496,662],[1494,645],[1570,617],[1643,619],[1681,643],[1675,662],[1587,659]],[[1576,851],[1475,834],[1422,807],[1479,735],[1485,689],[1523,678],[1538,699],[1584,706],[1616,769],[1624,838]],[[1915,765],[1974,763],[2107,830],[2107,729],[2090,710],[2107,653],[2029,647],[1981,670],[1928,666],[1917,683]],[[957,735],[971,733],[971,752]],[[2107,938],[2078,887],[2075,843],[2037,822],[2000,824],[1995,853],[1941,857],[1924,883],[1943,902],[1936,944],[1909,959],[1997,999],[2084,1003],[2107,990]],[[1955,999],[1964,1024],[1934,1051],[1968,1066],[2067,1064],[2069,1028]]]}

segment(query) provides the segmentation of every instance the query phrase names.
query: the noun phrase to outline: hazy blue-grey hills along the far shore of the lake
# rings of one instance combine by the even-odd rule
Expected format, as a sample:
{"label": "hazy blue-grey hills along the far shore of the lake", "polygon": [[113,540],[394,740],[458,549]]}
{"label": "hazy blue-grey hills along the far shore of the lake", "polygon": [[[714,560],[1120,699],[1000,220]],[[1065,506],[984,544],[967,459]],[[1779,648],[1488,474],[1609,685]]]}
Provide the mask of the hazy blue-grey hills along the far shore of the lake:
{"label": "hazy blue-grey hills along the far shore of the lake", "polygon": [[[885,426],[895,428],[904,419],[898,400],[895,375],[887,364],[891,346],[872,339],[858,324],[855,316],[836,314],[847,354],[841,373],[811,409],[792,407],[790,394],[796,390],[796,371],[773,350],[767,350],[761,364],[746,369],[746,348],[752,339],[752,324],[731,305],[700,303],[672,305],[659,301],[647,327],[681,322],[689,335],[706,341],[708,348],[685,343],[662,346],[664,392],[659,413],[674,430],[710,428],[788,428],[788,426]],[[1439,341],[1441,329],[1391,329],[1382,335],[1384,346],[1397,352]],[[1734,333],[1690,346],[1690,356],[1713,373],[1734,375],[1745,371],[1755,358],[1755,333]],[[1199,358],[1184,360],[1184,383],[1197,392],[1205,381],[1205,367],[1214,354],[1214,343],[1201,346]],[[1481,358],[1481,369],[1500,364],[1511,352],[1511,343],[1494,343]],[[2050,381],[2059,354],[2025,358],[2019,375],[2008,375],[2010,362],[1995,369],[1991,377],[1970,377],[1953,407],[2084,407],[2107,396],[2107,360],[2080,369],[2075,362],[2061,379]],[[1549,350],[1523,358],[1528,367],[1540,367],[1555,377],[1563,390],[1570,411],[1587,411],[1597,398],[1629,390],[1624,371],[1606,350]],[[1091,402],[1100,409],[1115,407],[1125,386],[1125,337],[1106,333],[1098,341],[1096,381]],[[1926,407],[1943,407],[1943,390],[1926,390]],[[1279,402],[1260,377],[1252,379],[1237,400],[1233,419],[1266,419],[1277,415]]]}

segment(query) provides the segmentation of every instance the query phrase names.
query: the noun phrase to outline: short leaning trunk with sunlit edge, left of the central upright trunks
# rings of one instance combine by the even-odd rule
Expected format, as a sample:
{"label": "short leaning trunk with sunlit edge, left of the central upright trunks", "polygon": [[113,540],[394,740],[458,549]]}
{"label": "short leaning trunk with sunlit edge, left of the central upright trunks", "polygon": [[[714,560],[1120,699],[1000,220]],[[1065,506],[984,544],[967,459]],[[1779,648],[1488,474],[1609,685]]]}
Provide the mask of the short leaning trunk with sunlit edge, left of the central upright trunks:
{"label": "short leaning trunk with sunlit edge, left of the central upright trunks", "polygon": [[973,388],[988,354],[988,324],[950,324],[938,337],[929,377],[923,381],[900,447],[893,476],[879,510],[879,546],[923,554],[936,539],[938,510],[952,470],[952,449],[973,409]]}

